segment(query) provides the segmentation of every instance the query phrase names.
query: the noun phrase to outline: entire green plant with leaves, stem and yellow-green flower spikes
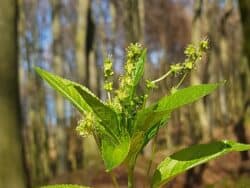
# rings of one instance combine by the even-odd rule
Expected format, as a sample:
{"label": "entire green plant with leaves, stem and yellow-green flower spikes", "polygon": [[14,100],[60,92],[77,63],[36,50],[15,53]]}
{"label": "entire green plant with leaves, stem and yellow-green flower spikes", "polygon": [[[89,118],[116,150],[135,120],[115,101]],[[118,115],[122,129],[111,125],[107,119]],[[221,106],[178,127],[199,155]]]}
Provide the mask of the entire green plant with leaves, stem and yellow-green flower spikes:
{"label": "entire green plant with leaves, stem and yellow-green flower spikes", "polygon": [[[144,72],[146,49],[139,44],[131,44],[126,50],[124,74],[119,79],[119,88],[113,88],[111,57],[104,61],[107,101],[100,100],[78,83],[38,67],[36,71],[83,114],[84,119],[79,121],[76,130],[82,136],[94,136],[106,170],[110,172],[121,164],[127,166],[128,187],[133,188],[136,159],[159,129],[166,125],[171,112],[208,95],[223,84],[180,88],[186,75],[196,67],[207,49],[207,40],[202,40],[197,46],[189,45],[185,50],[186,59],[183,63],[171,65],[170,70],[159,79],[144,82],[145,91],[139,93],[137,86]],[[148,96],[157,87],[157,83],[173,74],[180,77],[179,82],[168,95],[149,105]],[[216,141],[183,149],[168,156],[158,165],[152,176],[151,187],[160,187],[178,174],[231,151],[249,149],[250,145],[233,141]],[[118,186],[115,180],[114,184]]]}

